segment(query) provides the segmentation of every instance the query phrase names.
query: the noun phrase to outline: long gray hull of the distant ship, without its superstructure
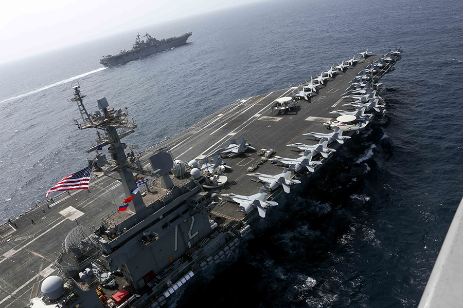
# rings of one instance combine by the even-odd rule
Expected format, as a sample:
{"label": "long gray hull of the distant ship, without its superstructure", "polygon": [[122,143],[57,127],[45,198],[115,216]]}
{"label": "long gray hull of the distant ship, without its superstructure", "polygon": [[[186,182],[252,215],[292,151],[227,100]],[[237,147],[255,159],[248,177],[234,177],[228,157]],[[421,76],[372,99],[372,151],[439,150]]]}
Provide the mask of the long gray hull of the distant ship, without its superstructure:
{"label": "long gray hull of the distant ship, without its superstructure", "polygon": [[185,33],[180,37],[173,38],[170,41],[161,41],[161,43],[147,46],[145,48],[140,48],[138,50],[130,50],[126,52],[121,52],[118,55],[106,56],[100,60],[100,64],[104,65],[105,67],[116,66],[119,64],[127,63],[136,59],[140,59],[141,57],[148,56],[154,53],[158,53],[173,47],[185,45],[187,43],[188,37],[190,37],[192,33]]}

